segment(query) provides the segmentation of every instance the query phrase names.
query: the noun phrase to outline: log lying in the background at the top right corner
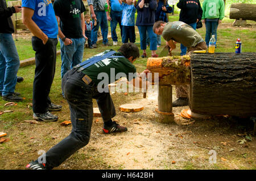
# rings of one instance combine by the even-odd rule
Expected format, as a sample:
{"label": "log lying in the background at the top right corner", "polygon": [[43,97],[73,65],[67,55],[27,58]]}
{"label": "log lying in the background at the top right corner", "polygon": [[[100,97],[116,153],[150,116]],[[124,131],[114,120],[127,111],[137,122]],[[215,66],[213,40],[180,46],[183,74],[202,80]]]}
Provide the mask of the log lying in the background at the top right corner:
{"label": "log lying in the background at the top right corner", "polygon": [[256,5],[245,3],[233,3],[230,6],[230,19],[254,20],[256,21]]}

